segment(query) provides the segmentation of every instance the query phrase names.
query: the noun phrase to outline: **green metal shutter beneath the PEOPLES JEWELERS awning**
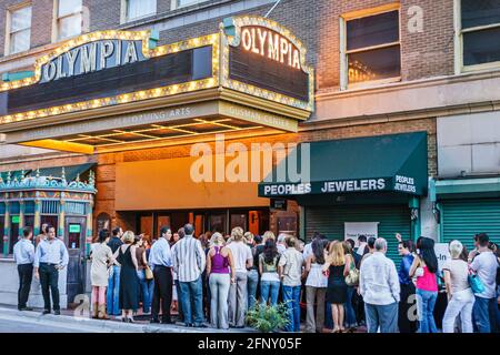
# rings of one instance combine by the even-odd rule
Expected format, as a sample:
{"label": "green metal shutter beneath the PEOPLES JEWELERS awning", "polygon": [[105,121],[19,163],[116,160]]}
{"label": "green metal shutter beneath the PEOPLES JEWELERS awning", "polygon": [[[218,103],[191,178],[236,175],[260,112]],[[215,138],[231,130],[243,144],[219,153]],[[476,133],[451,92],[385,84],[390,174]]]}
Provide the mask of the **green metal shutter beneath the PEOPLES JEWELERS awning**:
{"label": "green metal shutter beneath the PEOPLES JEWELERS awning", "polygon": [[[411,237],[411,220],[408,205],[349,205],[306,207],[306,233],[310,239],[314,232],[330,240],[343,240],[344,222],[379,222],[379,236],[388,241],[387,255],[397,265],[398,242],[394,233]],[[399,266],[399,265],[398,265]]]}

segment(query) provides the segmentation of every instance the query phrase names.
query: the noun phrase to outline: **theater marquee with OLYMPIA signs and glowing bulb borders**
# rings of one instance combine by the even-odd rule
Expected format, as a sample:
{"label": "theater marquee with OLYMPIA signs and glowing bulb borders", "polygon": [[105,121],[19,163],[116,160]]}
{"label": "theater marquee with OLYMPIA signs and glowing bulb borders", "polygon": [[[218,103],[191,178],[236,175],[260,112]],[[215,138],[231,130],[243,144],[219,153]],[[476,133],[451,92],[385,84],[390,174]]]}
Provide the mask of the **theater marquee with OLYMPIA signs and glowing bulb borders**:
{"label": "theater marquee with OLYMPIA signs and glowing bulb borders", "polygon": [[[294,132],[312,112],[306,50],[273,21],[229,18],[219,33],[157,40],[150,31],[100,31],[39,58],[31,77],[0,84],[4,142],[92,153]],[[188,106],[190,114],[170,114]]]}

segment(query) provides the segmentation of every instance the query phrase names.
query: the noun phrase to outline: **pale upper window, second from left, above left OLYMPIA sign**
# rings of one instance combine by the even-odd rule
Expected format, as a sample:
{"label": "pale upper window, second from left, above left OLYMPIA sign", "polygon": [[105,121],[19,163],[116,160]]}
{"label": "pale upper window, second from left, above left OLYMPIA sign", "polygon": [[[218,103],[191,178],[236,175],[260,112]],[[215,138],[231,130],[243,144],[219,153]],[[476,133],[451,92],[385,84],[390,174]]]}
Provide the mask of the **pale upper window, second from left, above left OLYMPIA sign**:
{"label": "pale upper window, second from left, above left OLYMPIA sign", "polygon": [[81,0],[59,0],[56,11],[58,41],[81,33],[83,21]]}

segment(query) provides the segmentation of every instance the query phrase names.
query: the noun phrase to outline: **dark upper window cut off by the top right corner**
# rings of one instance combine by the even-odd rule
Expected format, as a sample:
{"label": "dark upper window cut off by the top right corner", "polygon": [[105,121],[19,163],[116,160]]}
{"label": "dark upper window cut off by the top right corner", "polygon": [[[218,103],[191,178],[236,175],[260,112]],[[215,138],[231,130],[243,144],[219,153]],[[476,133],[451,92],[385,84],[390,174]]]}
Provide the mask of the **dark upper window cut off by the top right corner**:
{"label": "dark upper window cut off by the top right corner", "polygon": [[457,71],[500,67],[500,0],[457,0],[456,6],[462,52]]}

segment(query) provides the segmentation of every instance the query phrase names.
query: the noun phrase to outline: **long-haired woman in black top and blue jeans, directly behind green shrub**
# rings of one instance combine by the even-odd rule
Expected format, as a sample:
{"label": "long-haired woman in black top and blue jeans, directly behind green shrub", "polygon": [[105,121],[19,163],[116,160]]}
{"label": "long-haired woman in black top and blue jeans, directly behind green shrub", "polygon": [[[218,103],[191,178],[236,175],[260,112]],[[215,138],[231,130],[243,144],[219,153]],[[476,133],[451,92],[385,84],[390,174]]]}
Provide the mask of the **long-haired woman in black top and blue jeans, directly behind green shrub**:
{"label": "long-haired woman in black top and blue jeans, directly behind green shrub", "polygon": [[271,298],[271,305],[278,303],[278,294],[280,292],[279,256],[274,240],[267,240],[263,252],[259,255],[260,297],[263,305],[268,303],[269,298]]}

